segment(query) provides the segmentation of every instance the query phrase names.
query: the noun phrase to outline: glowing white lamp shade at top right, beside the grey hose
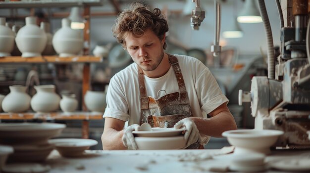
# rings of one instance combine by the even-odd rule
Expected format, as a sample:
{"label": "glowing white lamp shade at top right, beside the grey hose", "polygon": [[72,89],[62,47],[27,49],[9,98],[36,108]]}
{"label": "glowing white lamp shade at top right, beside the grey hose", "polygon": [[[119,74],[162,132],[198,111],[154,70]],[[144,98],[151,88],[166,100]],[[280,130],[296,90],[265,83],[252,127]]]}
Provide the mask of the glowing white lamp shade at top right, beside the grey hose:
{"label": "glowing white lamp shade at top right, beside the grey hose", "polygon": [[255,4],[255,0],[245,0],[244,7],[240,11],[237,20],[240,23],[262,22],[261,16]]}

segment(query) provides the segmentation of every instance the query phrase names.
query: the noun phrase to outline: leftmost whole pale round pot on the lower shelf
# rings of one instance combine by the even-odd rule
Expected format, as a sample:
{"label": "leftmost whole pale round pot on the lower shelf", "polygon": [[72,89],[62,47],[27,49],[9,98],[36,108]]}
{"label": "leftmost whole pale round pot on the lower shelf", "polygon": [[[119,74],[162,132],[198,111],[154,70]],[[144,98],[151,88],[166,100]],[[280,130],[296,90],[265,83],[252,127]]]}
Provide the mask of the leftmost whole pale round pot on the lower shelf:
{"label": "leftmost whole pale round pot on the lower shelf", "polygon": [[31,97],[26,93],[26,87],[22,85],[9,86],[10,93],[2,101],[4,112],[25,112],[30,107]]}

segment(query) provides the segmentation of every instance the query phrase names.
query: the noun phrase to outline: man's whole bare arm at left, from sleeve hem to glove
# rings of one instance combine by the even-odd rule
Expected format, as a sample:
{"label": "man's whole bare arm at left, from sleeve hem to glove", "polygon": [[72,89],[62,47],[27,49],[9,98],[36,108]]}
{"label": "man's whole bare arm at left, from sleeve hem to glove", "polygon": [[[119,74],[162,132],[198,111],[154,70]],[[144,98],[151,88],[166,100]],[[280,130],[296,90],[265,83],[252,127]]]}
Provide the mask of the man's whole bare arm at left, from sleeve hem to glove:
{"label": "man's whole bare arm at left, from sleeve hem to glove", "polygon": [[106,117],[101,140],[104,150],[127,149],[122,142],[125,121]]}

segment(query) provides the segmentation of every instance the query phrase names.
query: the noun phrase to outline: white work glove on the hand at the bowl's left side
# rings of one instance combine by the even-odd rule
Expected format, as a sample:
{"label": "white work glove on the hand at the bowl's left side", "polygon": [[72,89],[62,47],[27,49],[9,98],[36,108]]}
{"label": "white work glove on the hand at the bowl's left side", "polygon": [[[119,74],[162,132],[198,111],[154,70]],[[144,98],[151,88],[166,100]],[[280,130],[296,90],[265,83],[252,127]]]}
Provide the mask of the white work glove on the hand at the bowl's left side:
{"label": "white work glove on the hand at the bowl's left side", "polygon": [[122,137],[123,144],[129,149],[138,149],[138,145],[135,141],[135,137],[132,131],[139,131],[140,125],[133,124],[124,129],[124,134]]}

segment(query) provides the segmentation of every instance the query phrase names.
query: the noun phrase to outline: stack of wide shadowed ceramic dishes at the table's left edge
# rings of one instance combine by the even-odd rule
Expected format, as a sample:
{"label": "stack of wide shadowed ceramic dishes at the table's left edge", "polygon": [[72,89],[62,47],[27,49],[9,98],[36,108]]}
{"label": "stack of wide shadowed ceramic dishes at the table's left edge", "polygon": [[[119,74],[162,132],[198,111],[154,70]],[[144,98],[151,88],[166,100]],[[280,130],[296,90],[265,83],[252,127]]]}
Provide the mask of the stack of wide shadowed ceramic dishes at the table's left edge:
{"label": "stack of wide shadowed ceramic dishes at the table's left edge", "polygon": [[65,127],[56,123],[1,123],[0,144],[14,148],[8,162],[41,162],[53,149],[48,139],[59,135]]}

